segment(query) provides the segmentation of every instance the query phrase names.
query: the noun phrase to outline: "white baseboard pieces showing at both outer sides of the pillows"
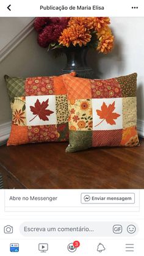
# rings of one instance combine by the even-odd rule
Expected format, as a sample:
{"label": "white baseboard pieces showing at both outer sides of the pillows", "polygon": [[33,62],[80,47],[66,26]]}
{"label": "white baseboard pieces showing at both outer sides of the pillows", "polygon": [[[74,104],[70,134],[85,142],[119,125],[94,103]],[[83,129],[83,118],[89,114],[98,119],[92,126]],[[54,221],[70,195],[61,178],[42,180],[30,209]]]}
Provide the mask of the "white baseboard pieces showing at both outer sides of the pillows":
{"label": "white baseboard pieces showing at both outer sides of the pillows", "polygon": [[[9,139],[11,129],[11,122],[4,123],[0,125],[0,145],[3,145]],[[144,137],[144,121],[137,120],[137,131],[140,137]]]}

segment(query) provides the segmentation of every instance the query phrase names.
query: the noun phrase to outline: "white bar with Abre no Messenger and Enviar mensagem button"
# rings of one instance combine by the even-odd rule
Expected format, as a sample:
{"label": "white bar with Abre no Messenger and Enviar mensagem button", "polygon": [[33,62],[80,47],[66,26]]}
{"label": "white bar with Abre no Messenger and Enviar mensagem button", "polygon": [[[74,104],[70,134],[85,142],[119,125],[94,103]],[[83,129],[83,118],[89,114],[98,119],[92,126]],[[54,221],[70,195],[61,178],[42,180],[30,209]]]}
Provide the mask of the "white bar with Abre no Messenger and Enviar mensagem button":
{"label": "white bar with Abre no Messenger and Enviar mensagem button", "polygon": [[6,189],[5,211],[139,211],[139,191]]}

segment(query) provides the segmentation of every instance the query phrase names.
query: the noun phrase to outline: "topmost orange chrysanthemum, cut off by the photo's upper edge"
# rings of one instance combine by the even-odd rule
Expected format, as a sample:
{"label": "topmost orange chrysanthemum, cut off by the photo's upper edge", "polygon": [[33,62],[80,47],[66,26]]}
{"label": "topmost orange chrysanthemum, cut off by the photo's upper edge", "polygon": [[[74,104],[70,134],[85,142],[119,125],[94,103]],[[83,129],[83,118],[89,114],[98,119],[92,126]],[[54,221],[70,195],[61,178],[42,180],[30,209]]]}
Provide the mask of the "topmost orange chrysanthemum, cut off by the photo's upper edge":
{"label": "topmost orange chrysanthemum, cut off by the photo's upper edge", "polygon": [[91,17],[71,17],[69,26],[79,25],[85,26],[87,29],[93,29],[93,18]]}

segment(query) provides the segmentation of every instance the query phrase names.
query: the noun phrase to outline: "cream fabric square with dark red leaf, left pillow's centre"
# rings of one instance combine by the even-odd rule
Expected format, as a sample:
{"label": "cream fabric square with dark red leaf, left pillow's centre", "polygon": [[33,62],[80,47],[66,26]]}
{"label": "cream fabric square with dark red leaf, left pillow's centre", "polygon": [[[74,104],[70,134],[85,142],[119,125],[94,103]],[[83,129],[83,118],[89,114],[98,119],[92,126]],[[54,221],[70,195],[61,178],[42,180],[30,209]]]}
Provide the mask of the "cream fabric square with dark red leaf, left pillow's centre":
{"label": "cream fabric square with dark red leaf, left pillow's centre", "polygon": [[[37,106],[37,102],[39,101],[39,106]],[[46,103],[48,102],[48,104]],[[44,102],[44,103],[43,103]],[[36,105],[35,105],[36,104]],[[43,104],[43,108],[41,106]],[[31,111],[31,106],[37,108],[37,114],[33,114]],[[41,114],[42,111],[49,110],[46,114],[44,113],[45,119],[40,119],[38,112]],[[56,125],[57,117],[56,117],[56,97],[55,95],[41,95],[41,96],[27,96],[26,97],[26,121],[27,125],[34,126],[34,125]]]}

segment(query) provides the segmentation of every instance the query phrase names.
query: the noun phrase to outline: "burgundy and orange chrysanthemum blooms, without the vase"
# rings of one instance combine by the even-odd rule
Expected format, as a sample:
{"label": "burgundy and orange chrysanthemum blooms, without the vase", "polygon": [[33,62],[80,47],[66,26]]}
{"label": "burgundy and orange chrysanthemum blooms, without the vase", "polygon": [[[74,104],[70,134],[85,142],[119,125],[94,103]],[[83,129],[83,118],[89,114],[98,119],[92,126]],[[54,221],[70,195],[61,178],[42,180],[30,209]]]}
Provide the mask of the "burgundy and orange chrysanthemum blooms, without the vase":
{"label": "burgundy and orange chrysanthemum blooms, without the vase", "polygon": [[109,53],[113,48],[113,35],[109,17],[38,17],[34,26],[38,44],[48,49],[85,47],[99,53]]}

